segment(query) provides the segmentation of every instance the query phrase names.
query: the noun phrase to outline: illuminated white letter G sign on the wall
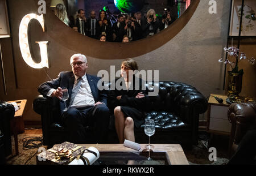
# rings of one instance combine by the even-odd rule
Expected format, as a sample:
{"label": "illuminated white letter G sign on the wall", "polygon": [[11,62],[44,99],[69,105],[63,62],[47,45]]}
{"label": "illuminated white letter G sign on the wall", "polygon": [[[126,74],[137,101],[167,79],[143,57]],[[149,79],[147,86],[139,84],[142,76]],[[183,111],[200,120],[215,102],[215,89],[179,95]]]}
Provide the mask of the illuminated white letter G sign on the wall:
{"label": "illuminated white letter G sign on the wall", "polygon": [[19,25],[19,48],[22,53],[22,57],[24,61],[33,68],[43,68],[47,67],[48,65],[48,54],[47,54],[47,43],[48,41],[37,41],[36,43],[39,44],[40,47],[40,54],[41,54],[41,62],[35,63],[31,57],[30,53],[30,47],[28,45],[28,36],[27,36],[27,30],[28,30],[28,23],[30,23],[31,19],[36,19],[41,24],[44,32],[44,18],[42,15],[36,15],[36,14],[27,14],[22,18],[22,21]]}

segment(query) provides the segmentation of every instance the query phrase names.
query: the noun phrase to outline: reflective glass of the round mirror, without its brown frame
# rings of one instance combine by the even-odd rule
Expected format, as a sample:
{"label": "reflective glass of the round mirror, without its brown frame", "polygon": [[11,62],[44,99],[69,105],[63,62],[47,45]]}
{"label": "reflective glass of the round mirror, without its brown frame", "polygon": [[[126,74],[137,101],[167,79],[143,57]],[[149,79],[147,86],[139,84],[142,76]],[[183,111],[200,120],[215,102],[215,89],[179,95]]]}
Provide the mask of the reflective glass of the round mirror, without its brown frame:
{"label": "reflective glass of the round mirror, without its brown frame", "polygon": [[81,35],[101,41],[131,42],[168,28],[191,1],[51,0],[51,8]]}

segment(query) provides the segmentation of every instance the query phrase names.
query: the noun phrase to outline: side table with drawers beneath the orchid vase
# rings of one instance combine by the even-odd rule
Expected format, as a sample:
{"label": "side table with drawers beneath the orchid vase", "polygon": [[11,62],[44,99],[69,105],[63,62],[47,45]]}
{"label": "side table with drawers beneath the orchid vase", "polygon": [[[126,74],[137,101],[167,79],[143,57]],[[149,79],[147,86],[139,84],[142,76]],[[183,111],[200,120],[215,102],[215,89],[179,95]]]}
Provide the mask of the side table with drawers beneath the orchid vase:
{"label": "side table with drawers beneath the orchid vase", "polygon": [[[213,96],[222,98],[223,103],[220,104]],[[226,102],[225,95],[210,94],[208,101],[207,113],[207,132],[210,133],[208,147],[213,138],[213,135],[230,135],[231,124],[228,121],[228,108],[230,104]]]}

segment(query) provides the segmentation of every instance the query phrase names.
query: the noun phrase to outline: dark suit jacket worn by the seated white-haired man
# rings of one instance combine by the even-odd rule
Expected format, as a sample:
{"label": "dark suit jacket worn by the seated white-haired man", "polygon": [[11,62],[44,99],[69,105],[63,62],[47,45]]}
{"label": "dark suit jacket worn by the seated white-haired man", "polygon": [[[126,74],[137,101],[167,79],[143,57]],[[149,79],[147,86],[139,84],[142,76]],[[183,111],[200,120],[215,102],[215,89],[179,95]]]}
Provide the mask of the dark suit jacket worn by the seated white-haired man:
{"label": "dark suit jacket worn by the seated white-haired man", "polygon": [[[86,74],[86,78],[88,80],[88,83],[90,85],[90,89],[92,91],[92,95],[94,97],[95,102],[103,102],[105,105],[107,105],[107,95],[103,92],[98,90],[97,83],[100,78],[93,75]],[[51,81],[47,81],[46,83],[43,83],[39,85],[38,92],[40,92],[43,96],[47,96],[47,93],[50,89],[57,89],[58,87],[67,87],[68,88],[68,95],[69,98],[66,101],[67,107],[69,106],[69,101],[72,94],[72,89],[75,81],[75,75],[72,71],[70,72],[60,72],[58,75],[58,78],[53,79]],[[63,112],[63,109],[65,108],[64,101],[60,101],[60,111]]]}

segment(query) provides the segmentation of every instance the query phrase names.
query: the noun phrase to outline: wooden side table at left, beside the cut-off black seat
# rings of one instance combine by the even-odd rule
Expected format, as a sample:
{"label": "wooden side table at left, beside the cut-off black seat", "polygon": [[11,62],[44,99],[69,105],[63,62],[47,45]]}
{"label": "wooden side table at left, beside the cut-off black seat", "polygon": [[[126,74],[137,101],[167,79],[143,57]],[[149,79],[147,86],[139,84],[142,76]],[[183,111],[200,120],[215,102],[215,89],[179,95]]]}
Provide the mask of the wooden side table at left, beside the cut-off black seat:
{"label": "wooden side table at left, beside the cut-off black seat", "polygon": [[24,122],[23,122],[23,111],[26,106],[27,100],[15,100],[8,102],[16,102],[16,104],[20,105],[19,110],[15,111],[14,118],[11,119],[11,131],[14,135],[14,143],[15,143],[15,156],[19,154],[18,148],[18,134],[24,132]]}

